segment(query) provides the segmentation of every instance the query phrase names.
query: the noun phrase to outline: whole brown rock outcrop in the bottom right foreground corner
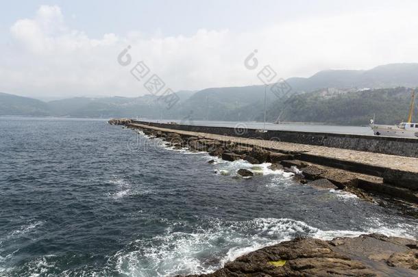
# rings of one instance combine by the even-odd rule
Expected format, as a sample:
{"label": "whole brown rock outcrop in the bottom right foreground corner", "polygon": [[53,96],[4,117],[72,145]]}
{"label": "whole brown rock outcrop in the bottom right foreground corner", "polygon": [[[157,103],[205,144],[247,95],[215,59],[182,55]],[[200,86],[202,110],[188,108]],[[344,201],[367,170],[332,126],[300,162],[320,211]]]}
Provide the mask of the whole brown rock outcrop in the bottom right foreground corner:
{"label": "whole brown rock outcrop in the bottom right foreground corner", "polygon": [[418,276],[417,269],[417,241],[371,234],[296,238],[239,256],[212,274],[188,277]]}

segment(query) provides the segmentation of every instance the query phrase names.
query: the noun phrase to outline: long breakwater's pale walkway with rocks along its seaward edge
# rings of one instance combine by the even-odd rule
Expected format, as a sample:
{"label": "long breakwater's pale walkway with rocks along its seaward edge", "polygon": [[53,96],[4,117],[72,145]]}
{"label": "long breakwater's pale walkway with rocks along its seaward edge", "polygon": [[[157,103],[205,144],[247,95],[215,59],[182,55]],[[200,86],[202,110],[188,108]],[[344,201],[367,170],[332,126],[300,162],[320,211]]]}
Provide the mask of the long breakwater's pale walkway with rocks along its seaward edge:
{"label": "long breakwater's pale walkway with rocks along its seaward edge", "polygon": [[[196,133],[128,123],[174,148],[206,151],[228,161],[272,163],[275,169],[295,173],[301,183],[322,189],[344,189],[365,200],[367,192],[418,203],[418,159],[378,153],[310,146],[270,140]],[[238,172],[243,176],[251,172]]]}

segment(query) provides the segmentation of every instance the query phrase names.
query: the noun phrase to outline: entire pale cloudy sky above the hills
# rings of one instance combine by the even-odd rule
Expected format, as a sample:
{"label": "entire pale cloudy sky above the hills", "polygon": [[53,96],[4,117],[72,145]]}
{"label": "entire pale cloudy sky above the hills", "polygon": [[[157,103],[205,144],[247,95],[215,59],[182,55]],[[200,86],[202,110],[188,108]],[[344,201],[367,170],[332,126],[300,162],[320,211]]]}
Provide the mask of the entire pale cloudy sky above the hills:
{"label": "entire pale cloudy sky above the hills", "polygon": [[0,92],[140,96],[151,76],[201,90],[261,84],[265,66],[286,79],[418,62],[417,13],[402,0],[3,1]]}

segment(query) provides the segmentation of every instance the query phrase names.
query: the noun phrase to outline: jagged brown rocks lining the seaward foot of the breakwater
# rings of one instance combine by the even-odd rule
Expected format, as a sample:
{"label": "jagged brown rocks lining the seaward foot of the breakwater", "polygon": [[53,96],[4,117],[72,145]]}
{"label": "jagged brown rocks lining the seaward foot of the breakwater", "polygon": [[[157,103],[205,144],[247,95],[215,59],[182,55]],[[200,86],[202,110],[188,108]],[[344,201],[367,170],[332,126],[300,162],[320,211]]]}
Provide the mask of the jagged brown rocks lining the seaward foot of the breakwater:
{"label": "jagged brown rocks lining the seaward foot of the breakwater", "polygon": [[[169,143],[175,149],[188,148],[191,151],[207,152],[214,157],[219,157],[226,161],[236,161],[243,159],[249,163],[271,163],[272,170],[284,170],[293,172],[293,178],[301,184],[310,185],[317,189],[337,189],[355,194],[362,200],[373,202],[371,194],[366,192],[362,187],[381,183],[381,179],[375,176],[358,174],[331,168],[328,166],[320,166],[315,163],[300,161],[297,159],[302,153],[288,152],[278,153],[267,150],[258,146],[249,146],[245,144],[237,144],[234,142],[220,142],[218,140],[208,140],[204,137],[180,135],[175,132],[162,132],[154,129],[138,128],[130,126],[129,119],[110,120],[110,124],[125,125],[128,128],[143,131],[151,138],[159,137]],[[211,163],[213,161],[209,161]],[[238,170],[237,174],[248,178],[253,175],[250,170]]]}

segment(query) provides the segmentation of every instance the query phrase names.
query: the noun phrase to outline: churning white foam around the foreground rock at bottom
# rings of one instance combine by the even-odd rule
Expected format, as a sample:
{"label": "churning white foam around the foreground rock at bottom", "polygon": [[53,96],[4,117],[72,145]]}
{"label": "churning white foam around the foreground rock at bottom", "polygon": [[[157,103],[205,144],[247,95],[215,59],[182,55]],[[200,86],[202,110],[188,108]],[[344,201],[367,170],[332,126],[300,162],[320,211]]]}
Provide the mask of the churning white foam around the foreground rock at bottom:
{"label": "churning white foam around the foreground rock at bottom", "polygon": [[[297,236],[332,239],[371,233],[371,230],[320,230],[288,218],[256,218],[243,222],[210,220],[190,233],[175,232],[175,227],[173,224],[164,235],[138,239],[119,250],[110,259],[117,272],[127,276],[208,274],[238,256]],[[382,228],[375,231],[382,233]]]}

